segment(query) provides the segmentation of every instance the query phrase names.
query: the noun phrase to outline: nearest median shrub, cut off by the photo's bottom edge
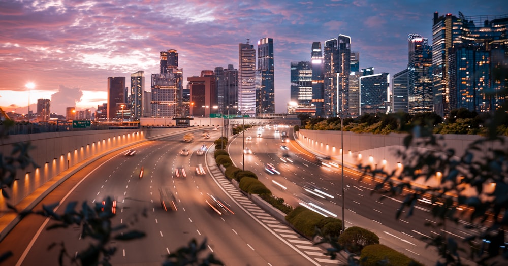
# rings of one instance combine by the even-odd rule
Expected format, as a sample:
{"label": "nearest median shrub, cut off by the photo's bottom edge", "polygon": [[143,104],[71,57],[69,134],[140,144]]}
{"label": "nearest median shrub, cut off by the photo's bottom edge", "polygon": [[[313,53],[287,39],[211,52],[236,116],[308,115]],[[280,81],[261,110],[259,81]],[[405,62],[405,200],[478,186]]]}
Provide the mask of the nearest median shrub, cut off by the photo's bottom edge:
{"label": "nearest median shrub, cut off by the photo's bottom edge", "polygon": [[410,257],[393,250],[385,245],[374,244],[368,245],[362,250],[360,255],[360,265],[362,266],[376,266],[380,262],[383,265],[422,265],[422,263],[411,259]]}

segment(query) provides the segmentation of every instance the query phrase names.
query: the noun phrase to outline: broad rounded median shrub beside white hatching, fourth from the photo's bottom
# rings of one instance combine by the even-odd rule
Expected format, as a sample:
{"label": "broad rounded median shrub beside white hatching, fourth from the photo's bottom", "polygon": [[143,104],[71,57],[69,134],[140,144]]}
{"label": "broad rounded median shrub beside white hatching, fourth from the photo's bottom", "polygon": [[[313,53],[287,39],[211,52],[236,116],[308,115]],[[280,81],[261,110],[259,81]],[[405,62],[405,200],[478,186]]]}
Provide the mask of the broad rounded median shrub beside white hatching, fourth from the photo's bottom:
{"label": "broad rounded median shrub beside white hatching, fourth from the photo's bottom", "polygon": [[285,217],[285,219],[301,232],[301,234],[308,238],[314,235],[316,224],[323,218],[325,218],[325,216],[303,206],[296,207]]}

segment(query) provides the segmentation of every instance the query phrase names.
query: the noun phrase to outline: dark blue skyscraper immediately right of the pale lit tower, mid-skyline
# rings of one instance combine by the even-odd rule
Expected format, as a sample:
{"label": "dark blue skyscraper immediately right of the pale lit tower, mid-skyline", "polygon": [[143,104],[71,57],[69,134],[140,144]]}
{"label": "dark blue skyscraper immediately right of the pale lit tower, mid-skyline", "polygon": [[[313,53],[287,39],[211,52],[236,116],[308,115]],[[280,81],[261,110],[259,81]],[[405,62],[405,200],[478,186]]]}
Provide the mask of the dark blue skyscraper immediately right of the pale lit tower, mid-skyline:
{"label": "dark blue skyscraper immediately right of the pale lit tower, mid-skyline", "polygon": [[258,41],[259,88],[257,89],[258,113],[275,113],[275,83],[273,69],[273,39],[263,38]]}

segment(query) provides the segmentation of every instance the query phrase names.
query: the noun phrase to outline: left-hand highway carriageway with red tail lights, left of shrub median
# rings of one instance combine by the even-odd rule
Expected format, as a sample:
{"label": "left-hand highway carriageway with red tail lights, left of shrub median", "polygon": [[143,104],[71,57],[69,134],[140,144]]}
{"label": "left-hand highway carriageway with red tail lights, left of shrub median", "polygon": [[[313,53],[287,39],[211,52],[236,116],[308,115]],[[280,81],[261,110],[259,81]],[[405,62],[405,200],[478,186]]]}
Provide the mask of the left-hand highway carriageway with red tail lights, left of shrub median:
{"label": "left-hand highway carriageway with red tail lights, left of shrub median", "polygon": [[[320,255],[323,250],[312,247],[310,242],[303,249],[311,252],[305,253],[295,248],[295,244],[290,245],[289,241],[281,239],[274,234],[277,229],[270,228],[288,231],[287,227],[282,230],[282,225],[262,214],[259,208],[259,211],[255,209],[241,193],[236,192],[240,195],[234,200],[217,185],[206,167],[207,154],[199,156],[196,152],[203,144],[209,147],[220,133],[213,131],[210,135],[210,139],[204,139],[197,134],[194,142],[184,143],[181,141],[183,134],[180,134],[133,147],[136,153],[132,156],[124,155],[126,150],[105,156],[59,186],[41,204],[62,201],[58,213],[72,201],[86,201],[91,205],[103,201],[106,196],[113,197],[117,202],[114,225],[126,224],[147,235],[131,242],[111,241],[117,248],[111,258],[114,265],[160,265],[165,255],[185,246],[193,238],[199,242],[206,238],[207,252],[212,252],[226,265],[298,265],[302,261],[319,265],[330,262]],[[189,155],[181,155],[182,149],[188,149]],[[205,175],[196,172],[199,164],[204,165]],[[161,187],[174,194],[176,211],[165,211],[161,207],[158,190]],[[209,195],[219,198],[229,211],[216,207],[219,214],[212,209],[206,203],[210,201]],[[239,205],[239,201],[242,204]],[[40,209],[41,204],[35,210]],[[253,211],[245,211],[247,208]],[[253,219],[252,213],[273,224],[267,226],[260,222],[261,219]],[[0,244],[2,250],[9,249],[14,253],[6,264],[57,264],[59,246],[48,250],[52,243],[65,243],[70,257],[87,247],[87,241],[79,241],[79,227],[46,230],[51,224],[38,216],[23,219]],[[290,236],[290,233],[285,235]],[[294,232],[291,237],[293,243],[305,242]]]}

